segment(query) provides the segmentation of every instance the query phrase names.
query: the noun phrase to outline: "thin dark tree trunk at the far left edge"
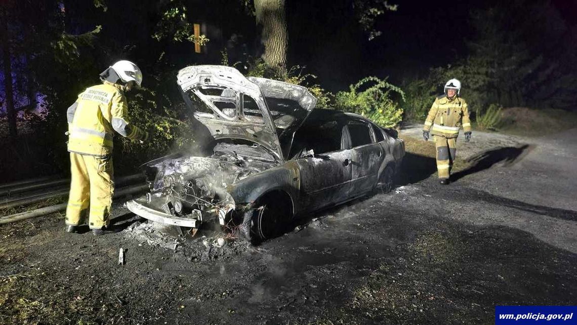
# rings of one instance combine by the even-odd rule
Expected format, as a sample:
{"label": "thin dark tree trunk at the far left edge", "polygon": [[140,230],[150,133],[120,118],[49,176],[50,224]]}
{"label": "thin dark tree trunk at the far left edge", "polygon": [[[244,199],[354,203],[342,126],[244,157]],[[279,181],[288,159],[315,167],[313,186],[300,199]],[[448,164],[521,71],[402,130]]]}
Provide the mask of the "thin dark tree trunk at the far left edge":
{"label": "thin dark tree trunk at the far left edge", "polygon": [[16,113],[14,112],[14,90],[12,89],[12,60],[10,58],[10,38],[8,36],[8,13],[6,9],[2,11],[2,31],[0,37],[2,40],[2,56],[4,66],[4,90],[6,96],[6,115],[8,115],[8,129],[10,137],[13,139],[17,136]]}

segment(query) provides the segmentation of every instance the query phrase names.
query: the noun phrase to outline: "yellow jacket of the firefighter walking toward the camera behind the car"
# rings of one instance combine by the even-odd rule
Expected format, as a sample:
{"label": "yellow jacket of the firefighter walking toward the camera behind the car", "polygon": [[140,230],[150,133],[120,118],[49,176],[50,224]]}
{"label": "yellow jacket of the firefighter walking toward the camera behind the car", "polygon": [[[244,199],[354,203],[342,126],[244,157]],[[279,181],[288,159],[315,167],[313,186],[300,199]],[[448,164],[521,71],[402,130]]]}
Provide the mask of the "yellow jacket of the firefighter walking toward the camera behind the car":
{"label": "yellow jacket of the firefighter walking toward the camera behind the car", "polygon": [[460,126],[463,126],[464,132],[471,130],[467,102],[459,96],[449,99],[447,95],[441,95],[434,100],[423,130],[430,131],[433,136],[451,139],[459,136]]}

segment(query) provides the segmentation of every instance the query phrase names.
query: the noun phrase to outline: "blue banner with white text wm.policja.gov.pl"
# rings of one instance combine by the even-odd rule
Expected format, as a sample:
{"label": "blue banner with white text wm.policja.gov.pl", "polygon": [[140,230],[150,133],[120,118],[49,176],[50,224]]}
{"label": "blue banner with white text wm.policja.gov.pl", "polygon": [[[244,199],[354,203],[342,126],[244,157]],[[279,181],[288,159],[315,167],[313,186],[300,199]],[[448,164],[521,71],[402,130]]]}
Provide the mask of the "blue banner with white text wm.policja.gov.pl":
{"label": "blue banner with white text wm.policja.gov.pl", "polygon": [[495,306],[495,324],[577,324],[577,306]]}

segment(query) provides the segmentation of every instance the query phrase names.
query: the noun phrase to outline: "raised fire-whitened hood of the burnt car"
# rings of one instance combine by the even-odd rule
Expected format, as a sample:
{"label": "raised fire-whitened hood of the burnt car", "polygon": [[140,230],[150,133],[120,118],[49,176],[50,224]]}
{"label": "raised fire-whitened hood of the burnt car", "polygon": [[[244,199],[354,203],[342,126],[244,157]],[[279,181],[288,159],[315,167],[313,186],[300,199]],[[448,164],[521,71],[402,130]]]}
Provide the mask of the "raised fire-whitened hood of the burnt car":
{"label": "raised fire-whitened hood of the burnt car", "polygon": [[294,132],[316,104],[304,87],[247,79],[229,66],[188,66],[178,72],[177,83],[194,117],[215,139],[253,141],[279,160],[287,159]]}

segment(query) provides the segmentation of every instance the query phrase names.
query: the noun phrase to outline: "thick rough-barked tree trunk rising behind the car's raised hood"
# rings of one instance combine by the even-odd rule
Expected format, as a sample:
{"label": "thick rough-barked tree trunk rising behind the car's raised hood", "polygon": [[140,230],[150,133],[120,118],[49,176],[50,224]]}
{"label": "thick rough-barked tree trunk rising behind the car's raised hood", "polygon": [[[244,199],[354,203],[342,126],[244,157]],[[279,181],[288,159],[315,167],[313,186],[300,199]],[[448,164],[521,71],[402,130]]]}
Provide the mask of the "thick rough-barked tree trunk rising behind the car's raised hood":
{"label": "thick rough-barked tree trunk rising behind the car's raised hood", "polygon": [[286,76],[287,21],[285,0],[254,0],[256,23],[263,28],[264,62],[278,76]]}

